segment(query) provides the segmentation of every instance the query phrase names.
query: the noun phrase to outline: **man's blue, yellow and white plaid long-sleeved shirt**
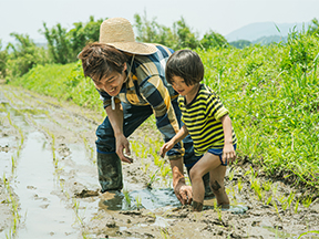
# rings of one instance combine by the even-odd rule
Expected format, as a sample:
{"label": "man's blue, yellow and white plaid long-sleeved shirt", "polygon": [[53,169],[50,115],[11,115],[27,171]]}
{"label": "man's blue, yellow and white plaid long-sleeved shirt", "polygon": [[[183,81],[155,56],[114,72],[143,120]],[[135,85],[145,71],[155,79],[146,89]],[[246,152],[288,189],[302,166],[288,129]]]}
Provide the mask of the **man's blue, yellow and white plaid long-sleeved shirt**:
{"label": "man's blue, yellow and white plaid long-sleeved shirt", "polygon": [[[156,126],[166,141],[169,141],[178,132],[179,126],[172,101],[178,96],[178,93],[167,83],[165,79],[165,66],[169,55],[174,52],[164,45],[155,44],[157,52],[151,55],[135,55],[133,64],[132,58],[126,62],[128,80],[123,84],[115,102],[142,106],[151,105],[156,117]],[[101,90],[97,90],[104,108],[111,105],[111,96]],[[179,156],[184,154],[181,144],[177,148]],[[175,155],[174,157],[176,157]],[[169,157],[173,159],[173,157]]]}

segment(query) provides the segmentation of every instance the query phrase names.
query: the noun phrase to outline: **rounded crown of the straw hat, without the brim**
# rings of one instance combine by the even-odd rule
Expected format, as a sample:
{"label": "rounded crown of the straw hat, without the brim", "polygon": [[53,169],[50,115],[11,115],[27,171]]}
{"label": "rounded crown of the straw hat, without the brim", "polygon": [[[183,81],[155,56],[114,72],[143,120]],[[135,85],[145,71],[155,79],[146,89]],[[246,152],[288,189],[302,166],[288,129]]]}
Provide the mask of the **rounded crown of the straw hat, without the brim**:
{"label": "rounded crown of the straw hat, without the brim", "polygon": [[131,22],[124,18],[106,19],[100,28],[100,42],[135,42]]}

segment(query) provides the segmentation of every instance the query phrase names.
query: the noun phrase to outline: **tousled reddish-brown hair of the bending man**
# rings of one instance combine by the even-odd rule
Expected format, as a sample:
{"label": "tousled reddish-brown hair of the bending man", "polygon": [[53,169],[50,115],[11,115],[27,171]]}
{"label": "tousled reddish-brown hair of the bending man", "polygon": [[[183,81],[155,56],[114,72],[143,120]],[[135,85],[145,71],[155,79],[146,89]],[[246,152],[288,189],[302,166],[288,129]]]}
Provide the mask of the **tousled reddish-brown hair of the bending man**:
{"label": "tousled reddish-brown hair of the bending man", "polygon": [[78,58],[82,61],[84,76],[94,76],[95,81],[110,75],[113,71],[122,73],[127,61],[125,53],[99,42],[88,44]]}

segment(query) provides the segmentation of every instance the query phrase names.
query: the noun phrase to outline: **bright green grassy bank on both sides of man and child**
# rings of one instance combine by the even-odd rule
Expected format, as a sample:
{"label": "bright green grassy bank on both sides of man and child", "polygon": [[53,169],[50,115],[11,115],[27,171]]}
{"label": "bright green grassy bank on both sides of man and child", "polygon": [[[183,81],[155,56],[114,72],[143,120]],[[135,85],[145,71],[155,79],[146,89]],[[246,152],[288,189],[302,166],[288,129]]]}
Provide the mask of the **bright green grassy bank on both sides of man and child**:
{"label": "bright green grassy bank on both sides of man and child", "polygon": [[[319,39],[292,33],[286,44],[197,52],[205,83],[230,111],[239,159],[319,188]],[[37,66],[10,84],[104,114],[90,81],[78,62]]]}

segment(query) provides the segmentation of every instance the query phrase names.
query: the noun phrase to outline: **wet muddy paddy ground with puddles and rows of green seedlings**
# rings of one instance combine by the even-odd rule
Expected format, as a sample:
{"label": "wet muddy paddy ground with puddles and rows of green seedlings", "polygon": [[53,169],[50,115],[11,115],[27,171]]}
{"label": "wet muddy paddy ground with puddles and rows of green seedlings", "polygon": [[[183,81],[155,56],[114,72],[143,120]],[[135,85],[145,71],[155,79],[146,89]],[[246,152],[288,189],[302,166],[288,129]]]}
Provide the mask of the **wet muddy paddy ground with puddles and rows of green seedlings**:
{"label": "wet muddy paddy ground with puddles and rows of green seedlings", "polygon": [[0,85],[0,238],[319,238],[313,191],[266,178],[245,160],[227,172],[230,210],[214,199],[203,212],[182,207],[158,157],[161,135],[147,123],[130,138],[135,160],[123,165],[123,193],[101,195],[94,132],[102,121]]}

